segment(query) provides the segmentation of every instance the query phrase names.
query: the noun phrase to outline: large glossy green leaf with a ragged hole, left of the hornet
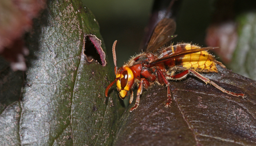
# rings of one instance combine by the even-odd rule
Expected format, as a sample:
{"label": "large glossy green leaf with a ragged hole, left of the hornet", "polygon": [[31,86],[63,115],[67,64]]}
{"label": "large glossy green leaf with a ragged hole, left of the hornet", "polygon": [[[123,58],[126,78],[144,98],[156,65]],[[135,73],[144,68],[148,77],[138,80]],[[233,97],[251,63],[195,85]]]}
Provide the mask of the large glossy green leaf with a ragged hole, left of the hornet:
{"label": "large glossy green leaf with a ragged hole, left of the hornet", "polygon": [[113,72],[85,54],[99,40],[99,25],[80,1],[48,2],[26,35],[27,71],[1,67],[0,145],[112,144],[119,105],[104,91]]}

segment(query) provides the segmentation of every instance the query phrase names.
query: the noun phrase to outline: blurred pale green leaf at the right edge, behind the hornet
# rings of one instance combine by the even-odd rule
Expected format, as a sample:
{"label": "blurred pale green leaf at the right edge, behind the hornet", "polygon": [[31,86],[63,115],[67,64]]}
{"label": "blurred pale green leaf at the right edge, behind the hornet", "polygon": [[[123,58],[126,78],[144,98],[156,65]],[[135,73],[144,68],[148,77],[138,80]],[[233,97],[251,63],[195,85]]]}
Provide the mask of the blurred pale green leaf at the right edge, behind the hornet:
{"label": "blurred pale green leaf at the right edge, behind the hornet", "polygon": [[230,68],[233,72],[256,80],[256,13],[244,13],[237,18],[238,43],[233,54]]}

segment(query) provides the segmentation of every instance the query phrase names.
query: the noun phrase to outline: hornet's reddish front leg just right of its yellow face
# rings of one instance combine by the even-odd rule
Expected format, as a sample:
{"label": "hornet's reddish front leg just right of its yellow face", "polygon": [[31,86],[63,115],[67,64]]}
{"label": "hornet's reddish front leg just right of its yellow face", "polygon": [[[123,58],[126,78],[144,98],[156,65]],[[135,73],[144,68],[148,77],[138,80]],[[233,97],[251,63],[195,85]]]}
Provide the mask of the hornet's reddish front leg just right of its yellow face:
{"label": "hornet's reddish front leg just right of its yellow face", "polygon": [[[140,79],[140,85],[139,85],[139,88],[137,90],[137,98],[136,98],[136,102],[135,102],[135,105],[130,109],[130,112],[132,112],[133,110],[135,110],[138,106],[139,106],[139,102],[140,102],[140,94],[142,93],[142,90],[143,90],[143,86],[144,88],[148,88],[149,86],[149,81],[145,78],[141,78]],[[131,102],[131,100],[130,100]]]}

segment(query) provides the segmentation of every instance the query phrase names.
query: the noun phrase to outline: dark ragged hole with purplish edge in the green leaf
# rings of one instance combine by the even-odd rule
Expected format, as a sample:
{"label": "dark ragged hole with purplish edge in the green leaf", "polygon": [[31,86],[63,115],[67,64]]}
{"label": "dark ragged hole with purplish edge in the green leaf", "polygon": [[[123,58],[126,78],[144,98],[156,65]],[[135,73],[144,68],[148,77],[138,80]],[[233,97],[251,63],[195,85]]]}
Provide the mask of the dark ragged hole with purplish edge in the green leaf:
{"label": "dark ragged hole with purplish edge in the green leaf", "polygon": [[106,65],[105,52],[101,48],[101,40],[95,35],[85,35],[84,37],[84,54],[88,62],[97,61],[102,66]]}

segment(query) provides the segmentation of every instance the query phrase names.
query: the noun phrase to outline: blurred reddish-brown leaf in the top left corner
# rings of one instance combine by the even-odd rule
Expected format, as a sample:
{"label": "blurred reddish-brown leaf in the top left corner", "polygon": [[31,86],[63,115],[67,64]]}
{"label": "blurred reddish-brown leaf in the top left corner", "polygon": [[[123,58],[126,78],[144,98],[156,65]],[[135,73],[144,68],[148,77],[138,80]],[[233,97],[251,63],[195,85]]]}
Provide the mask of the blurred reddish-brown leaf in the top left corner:
{"label": "blurred reddish-brown leaf in the top left corner", "polygon": [[23,33],[31,28],[32,19],[44,7],[45,0],[0,1],[0,54],[11,61],[13,70],[26,69],[21,52],[27,52],[27,49],[20,40]]}

